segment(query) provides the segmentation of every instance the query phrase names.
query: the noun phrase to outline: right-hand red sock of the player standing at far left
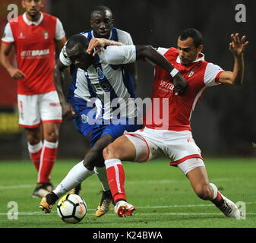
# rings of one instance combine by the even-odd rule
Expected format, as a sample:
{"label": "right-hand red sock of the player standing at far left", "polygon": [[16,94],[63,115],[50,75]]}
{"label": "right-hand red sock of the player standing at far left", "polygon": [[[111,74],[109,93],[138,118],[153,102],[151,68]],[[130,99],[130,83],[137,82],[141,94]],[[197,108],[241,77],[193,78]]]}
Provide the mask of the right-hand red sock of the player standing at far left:
{"label": "right-hand red sock of the player standing at far left", "polygon": [[40,169],[38,172],[38,183],[48,183],[49,175],[52,172],[55,159],[58,152],[58,142],[50,143],[46,140],[43,141],[43,150],[40,158]]}

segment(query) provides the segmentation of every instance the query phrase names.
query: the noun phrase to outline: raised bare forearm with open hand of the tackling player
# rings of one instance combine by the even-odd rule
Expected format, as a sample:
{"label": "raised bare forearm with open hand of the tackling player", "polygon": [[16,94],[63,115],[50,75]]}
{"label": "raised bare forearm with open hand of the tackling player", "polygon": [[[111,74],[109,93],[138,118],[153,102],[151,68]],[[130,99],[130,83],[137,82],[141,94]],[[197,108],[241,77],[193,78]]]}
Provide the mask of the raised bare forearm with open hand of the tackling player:
{"label": "raised bare forearm with open hand of the tackling player", "polygon": [[234,55],[234,68],[233,71],[224,71],[220,74],[219,81],[222,84],[242,84],[244,78],[244,51],[245,47],[248,46],[246,36],[242,36],[240,39],[239,33],[231,34],[232,42],[229,43],[229,50]]}

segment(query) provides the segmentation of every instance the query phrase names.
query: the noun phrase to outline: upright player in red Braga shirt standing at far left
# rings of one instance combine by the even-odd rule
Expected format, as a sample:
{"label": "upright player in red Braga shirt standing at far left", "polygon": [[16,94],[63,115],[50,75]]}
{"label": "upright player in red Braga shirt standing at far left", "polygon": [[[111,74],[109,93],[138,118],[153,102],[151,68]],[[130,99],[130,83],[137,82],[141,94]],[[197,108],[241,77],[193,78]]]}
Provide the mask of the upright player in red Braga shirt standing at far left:
{"label": "upright player in red Braga shirt standing at far left", "polygon": [[[43,1],[23,0],[22,6],[25,13],[5,27],[0,61],[18,82],[19,124],[26,130],[30,158],[38,172],[33,197],[44,197],[52,191],[49,175],[57,155],[62,122],[62,109],[53,83],[55,44],[62,49],[66,38],[58,18],[40,11]],[[17,67],[8,60],[12,46],[15,46]]]}

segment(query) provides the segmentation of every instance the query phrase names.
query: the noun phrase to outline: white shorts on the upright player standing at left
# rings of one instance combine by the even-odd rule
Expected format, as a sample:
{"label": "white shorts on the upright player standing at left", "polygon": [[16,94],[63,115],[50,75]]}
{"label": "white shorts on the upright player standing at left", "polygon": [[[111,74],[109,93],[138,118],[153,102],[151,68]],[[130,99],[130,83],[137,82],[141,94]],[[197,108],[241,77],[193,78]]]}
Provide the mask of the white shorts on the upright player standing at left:
{"label": "white shorts on the upright player standing at left", "polygon": [[19,125],[36,128],[41,122],[62,122],[62,107],[57,91],[35,95],[17,95]]}

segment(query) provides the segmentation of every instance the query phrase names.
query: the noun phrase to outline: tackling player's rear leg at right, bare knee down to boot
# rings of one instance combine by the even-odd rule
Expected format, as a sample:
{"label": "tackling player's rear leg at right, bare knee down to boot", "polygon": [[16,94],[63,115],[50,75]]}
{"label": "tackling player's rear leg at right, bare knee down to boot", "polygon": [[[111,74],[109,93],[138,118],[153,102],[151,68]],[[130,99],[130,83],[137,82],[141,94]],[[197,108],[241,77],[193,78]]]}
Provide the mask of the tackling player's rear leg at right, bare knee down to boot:
{"label": "tackling player's rear leg at right, bare knee down to boot", "polygon": [[[196,159],[198,160],[198,159]],[[195,159],[187,161],[186,163],[195,163]],[[194,167],[186,173],[194,192],[203,200],[210,200],[216,207],[218,207],[226,216],[240,218],[240,211],[238,207],[223,194],[218,191],[216,185],[209,183],[207,170],[200,163],[198,167]]]}

